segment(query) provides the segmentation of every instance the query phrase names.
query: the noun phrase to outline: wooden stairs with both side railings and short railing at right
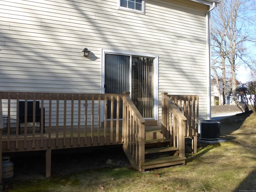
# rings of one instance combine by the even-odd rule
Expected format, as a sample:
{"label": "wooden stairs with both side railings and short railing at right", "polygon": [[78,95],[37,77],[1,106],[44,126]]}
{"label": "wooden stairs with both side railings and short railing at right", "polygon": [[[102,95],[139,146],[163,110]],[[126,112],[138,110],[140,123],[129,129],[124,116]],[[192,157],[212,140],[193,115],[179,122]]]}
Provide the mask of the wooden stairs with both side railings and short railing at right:
{"label": "wooden stairs with both side railings and short railing at right", "polygon": [[[161,125],[145,120],[125,96],[123,149],[134,169],[185,164],[185,138],[192,138],[196,152],[198,96],[174,96],[162,93]],[[159,125],[159,126],[158,126]]]}

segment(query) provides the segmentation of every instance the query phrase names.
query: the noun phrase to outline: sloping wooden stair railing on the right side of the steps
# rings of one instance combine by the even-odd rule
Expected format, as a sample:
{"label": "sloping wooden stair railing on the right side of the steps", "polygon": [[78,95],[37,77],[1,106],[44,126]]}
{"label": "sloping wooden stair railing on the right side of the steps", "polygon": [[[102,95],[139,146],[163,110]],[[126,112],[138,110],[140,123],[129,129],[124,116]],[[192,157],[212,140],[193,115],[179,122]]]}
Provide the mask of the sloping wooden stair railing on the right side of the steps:
{"label": "sloping wooden stair railing on the right side of the steps", "polygon": [[[167,138],[172,135],[174,139],[173,144],[174,146],[178,146],[179,156],[183,158],[185,157],[185,129],[187,118],[182,114],[167,94],[168,93],[162,93],[162,130]],[[173,123],[175,126],[178,126],[177,130],[175,127],[173,128],[173,133],[172,128],[170,128],[172,125],[169,125],[169,122],[172,124],[172,120],[169,120],[169,117],[172,118],[172,114],[174,116]]]}

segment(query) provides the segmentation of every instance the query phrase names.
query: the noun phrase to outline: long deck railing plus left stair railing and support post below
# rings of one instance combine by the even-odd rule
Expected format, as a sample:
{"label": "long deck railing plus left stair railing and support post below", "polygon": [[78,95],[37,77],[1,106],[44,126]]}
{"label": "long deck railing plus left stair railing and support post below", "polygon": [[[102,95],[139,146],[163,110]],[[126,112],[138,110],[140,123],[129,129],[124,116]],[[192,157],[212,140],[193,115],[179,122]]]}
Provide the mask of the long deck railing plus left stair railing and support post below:
{"label": "long deck railing plus left stair railing and support post below", "polygon": [[[22,122],[20,101],[24,102]],[[33,108],[30,120],[28,102]],[[43,114],[40,120],[36,118],[38,102],[39,114]],[[140,165],[144,162],[145,120],[129,93],[0,92],[0,104],[0,112],[3,112],[1,116],[6,120],[3,134],[0,129],[2,152],[45,150],[46,177],[50,176],[52,149],[123,143],[134,168],[141,170]],[[39,127],[36,120],[40,122]]]}

